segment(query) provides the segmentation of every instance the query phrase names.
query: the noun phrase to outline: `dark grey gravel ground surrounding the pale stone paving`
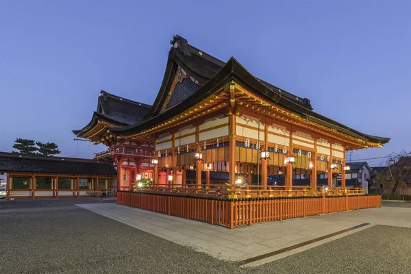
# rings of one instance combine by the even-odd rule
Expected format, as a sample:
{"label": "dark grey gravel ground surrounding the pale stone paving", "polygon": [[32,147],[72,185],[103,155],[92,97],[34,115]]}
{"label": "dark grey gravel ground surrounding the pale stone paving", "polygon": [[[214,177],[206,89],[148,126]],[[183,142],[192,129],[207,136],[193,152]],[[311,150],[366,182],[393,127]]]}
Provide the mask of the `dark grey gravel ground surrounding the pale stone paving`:
{"label": "dark grey gravel ground surrounding the pale stone paving", "polygon": [[410,273],[411,229],[375,226],[253,269],[74,206],[0,202],[0,273]]}

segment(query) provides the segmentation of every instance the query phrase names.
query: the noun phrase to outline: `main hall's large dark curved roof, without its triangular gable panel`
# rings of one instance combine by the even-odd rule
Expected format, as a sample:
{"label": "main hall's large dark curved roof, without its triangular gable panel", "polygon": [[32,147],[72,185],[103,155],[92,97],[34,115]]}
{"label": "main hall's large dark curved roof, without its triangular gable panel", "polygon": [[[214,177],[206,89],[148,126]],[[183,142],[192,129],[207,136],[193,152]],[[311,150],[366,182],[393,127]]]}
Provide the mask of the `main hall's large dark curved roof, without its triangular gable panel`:
{"label": "main hall's large dark curved roof, without its triangular gable panel", "polygon": [[[326,127],[332,127],[349,136],[364,140],[365,142],[384,144],[390,140],[390,138],[372,136],[358,132],[355,129],[351,129],[346,125],[312,111],[309,99],[301,99],[300,97],[296,97],[289,92],[285,92],[276,86],[254,77],[233,57],[224,63],[221,60],[188,45],[187,40],[181,36],[175,36],[171,42],[173,43],[173,47],[170,49],[169,62],[166,66],[162,86],[150,112],[145,116],[145,119],[136,125],[111,129],[110,131],[114,134],[124,136],[136,134],[150,125],[160,123],[179,112],[191,108],[203,99],[206,99],[206,97],[212,95],[216,88],[234,80],[247,87],[247,89],[254,92],[256,95],[269,99],[274,104],[282,105],[288,110],[292,110],[292,112],[301,114],[307,121],[313,121],[320,125],[325,125]],[[177,71],[177,66],[182,67],[203,85],[194,95],[186,98],[177,106],[160,112],[160,108],[166,101],[166,96],[168,95],[167,90],[169,90],[171,86],[172,79]]]}

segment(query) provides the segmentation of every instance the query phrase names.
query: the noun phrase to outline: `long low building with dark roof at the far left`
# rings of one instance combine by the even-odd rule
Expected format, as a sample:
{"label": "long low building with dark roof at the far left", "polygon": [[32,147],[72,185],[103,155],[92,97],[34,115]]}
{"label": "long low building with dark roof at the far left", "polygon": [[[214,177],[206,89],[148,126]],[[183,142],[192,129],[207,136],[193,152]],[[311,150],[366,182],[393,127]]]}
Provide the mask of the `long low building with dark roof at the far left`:
{"label": "long low building with dark roof at the far left", "polygon": [[112,197],[116,169],[99,160],[0,152],[6,198]]}

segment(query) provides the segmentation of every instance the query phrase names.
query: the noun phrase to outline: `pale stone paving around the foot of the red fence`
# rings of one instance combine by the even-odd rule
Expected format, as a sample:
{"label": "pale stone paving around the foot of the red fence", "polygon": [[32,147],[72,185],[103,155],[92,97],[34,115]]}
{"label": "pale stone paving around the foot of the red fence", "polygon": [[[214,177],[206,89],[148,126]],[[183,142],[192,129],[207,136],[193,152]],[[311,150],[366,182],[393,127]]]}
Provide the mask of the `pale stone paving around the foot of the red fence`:
{"label": "pale stone paving around the foot of the red fence", "polygon": [[[366,229],[372,225],[411,227],[411,210],[408,208],[371,208],[368,210],[312,216],[305,219],[262,223],[252,227],[245,226],[227,229],[226,227],[186,220],[138,208],[118,206],[112,203],[79,204],[77,206],[179,245],[192,247],[214,258],[228,261],[246,260],[327,234],[339,232],[343,229],[349,229],[362,223],[370,223],[370,225],[360,229]],[[256,266],[277,260],[278,258],[284,258],[293,253],[321,245],[324,242],[358,232],[360,229],[354,229],[351,232],[282,253],[275,258],[260,260],[259,262],[249,264],[249,266]]]}

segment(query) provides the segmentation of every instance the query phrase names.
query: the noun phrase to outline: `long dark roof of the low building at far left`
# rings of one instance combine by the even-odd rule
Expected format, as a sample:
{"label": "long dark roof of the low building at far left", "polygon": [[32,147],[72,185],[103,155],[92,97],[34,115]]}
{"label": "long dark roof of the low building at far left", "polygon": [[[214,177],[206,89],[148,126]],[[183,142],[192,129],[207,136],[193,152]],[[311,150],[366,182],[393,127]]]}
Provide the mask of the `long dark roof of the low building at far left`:
{"label": "long dark roof of the low building at far left", "polygon": [[6,152],[0,152],[0,171],[106,176],[117,174],[110,162]]}

